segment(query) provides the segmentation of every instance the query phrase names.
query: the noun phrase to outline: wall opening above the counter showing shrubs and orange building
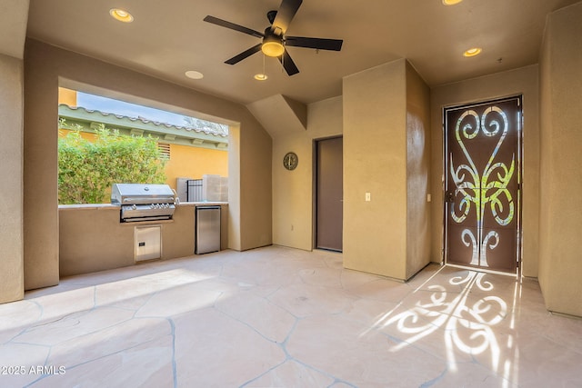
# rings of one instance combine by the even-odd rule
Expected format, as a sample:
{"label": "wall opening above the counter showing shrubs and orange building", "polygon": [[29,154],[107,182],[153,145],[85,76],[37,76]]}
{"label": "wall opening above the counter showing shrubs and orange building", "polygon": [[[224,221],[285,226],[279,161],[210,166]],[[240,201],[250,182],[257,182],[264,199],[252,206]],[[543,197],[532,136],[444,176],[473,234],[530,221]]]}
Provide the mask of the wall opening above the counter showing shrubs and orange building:
{"label": "wall opening above the counter showing shrubs and orange building", "polygon": [[65,87],[58,102],[59,204],[108,203],[114,183],[227,182],[226,124]]}

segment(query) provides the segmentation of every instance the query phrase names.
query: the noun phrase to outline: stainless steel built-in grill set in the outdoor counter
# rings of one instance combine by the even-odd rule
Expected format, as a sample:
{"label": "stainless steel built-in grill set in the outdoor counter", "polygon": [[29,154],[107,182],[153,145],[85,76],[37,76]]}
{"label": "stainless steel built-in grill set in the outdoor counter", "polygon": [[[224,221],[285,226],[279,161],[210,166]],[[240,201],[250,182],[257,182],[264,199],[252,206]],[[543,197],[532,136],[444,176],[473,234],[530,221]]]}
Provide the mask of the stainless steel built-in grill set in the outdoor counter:
{"label": "stainless steel built-in grill set in the outdoor counter", "polygon": [[167,184],[114,184],[111,204],[121,205],[120,221],[169,220],[176,210],[176,192]]}

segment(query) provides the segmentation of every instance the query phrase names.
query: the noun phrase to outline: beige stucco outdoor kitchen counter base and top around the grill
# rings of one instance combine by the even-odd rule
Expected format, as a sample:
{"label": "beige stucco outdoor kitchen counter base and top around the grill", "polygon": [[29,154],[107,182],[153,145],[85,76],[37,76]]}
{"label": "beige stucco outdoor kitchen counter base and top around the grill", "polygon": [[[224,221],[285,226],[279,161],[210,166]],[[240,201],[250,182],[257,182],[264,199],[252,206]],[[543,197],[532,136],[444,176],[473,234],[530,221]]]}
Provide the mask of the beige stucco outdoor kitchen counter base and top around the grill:
{"label": "beige stucco outdoor kitchen counter base and top around the grill", "polygon": [[227,203],[186,202],[171,220],[121,223],[115,204],[59,205],[60,276],[89,274],[135,264],[135,227],[160,225],[161,259],[194,255],[196,206],[220,205],[221,249],[228,246]]}

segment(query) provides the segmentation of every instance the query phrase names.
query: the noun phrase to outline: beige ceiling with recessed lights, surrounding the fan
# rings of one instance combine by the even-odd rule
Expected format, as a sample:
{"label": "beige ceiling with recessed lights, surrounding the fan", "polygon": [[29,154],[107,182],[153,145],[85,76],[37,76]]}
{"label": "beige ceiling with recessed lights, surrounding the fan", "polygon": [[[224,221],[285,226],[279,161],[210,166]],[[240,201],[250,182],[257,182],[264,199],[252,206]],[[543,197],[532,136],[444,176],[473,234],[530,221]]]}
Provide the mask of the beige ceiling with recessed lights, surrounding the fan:
{"label": "beige ceiling with recessed lights, surrounding the fan", "polygon": [[[260,39],[203,21],[213,15],[263,32],[280,0],[30,0],[27,35],[242,104],[271,95],[308,104],[341,95],[342,77],[397,58],[407,58],[429,86],[536,64],[547,14],[577,1],[304,0],[287,35],[344,44],[340,52],[287,47],[299,69],[292,76],[261,53],[226,65]],[[113,19],[114,7],[134,21]],[[481,55],[462,55],[474,46]],[[264,59],[268,79],[256,81]],[[204,78],[187,78],[189,70]]]}

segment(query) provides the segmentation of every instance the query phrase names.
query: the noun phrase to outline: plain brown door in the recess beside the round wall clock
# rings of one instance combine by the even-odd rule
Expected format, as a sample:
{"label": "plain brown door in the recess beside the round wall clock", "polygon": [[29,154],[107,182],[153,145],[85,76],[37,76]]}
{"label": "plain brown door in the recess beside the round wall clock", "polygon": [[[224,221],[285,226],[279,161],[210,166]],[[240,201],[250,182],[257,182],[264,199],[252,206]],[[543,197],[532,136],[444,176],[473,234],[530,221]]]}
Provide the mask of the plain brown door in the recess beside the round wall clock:
{"label": "plain brown door in the recess beside the round wall clock", "polygon": [[343,139],[316,142],[316,248],[342,251]]}

